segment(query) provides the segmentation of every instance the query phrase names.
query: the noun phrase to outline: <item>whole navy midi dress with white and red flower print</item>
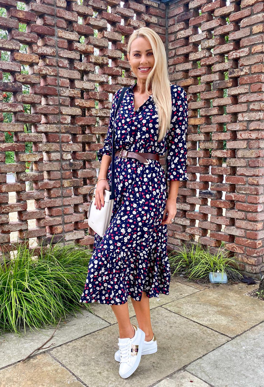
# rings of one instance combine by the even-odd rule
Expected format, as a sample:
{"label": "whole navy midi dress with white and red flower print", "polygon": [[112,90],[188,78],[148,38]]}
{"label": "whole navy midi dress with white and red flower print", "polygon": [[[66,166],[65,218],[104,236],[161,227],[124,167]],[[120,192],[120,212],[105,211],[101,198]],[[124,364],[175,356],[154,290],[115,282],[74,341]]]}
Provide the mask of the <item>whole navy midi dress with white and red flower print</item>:
{"label": "whole navy midi dress with white and red flower print", "polygon": [[[99,161],[112,155],[112,128],[115,148],[163,155],[166,171],[157,160],[146,165],[135,158],[115,156],[116,197],[110,224],[103,237],[95,233],[93,253],[80,302],[97,301],[121,305],[128,296],[140,301],[142,292],[150,297],[169,294],[170,265],[167,256],[167,224],[161,224],[165,209],[167,180],[188,180],[186,173],[186,132],[188,108],[186,92],[170,85],[172,116],[170,129],[158,139],[158,113],[153,95],[134,111],[133,87],[129,87],[114,121],[122,89],[113,98],[104,146],[97,151]],[[107,179],[111,184],[111,164]]]}

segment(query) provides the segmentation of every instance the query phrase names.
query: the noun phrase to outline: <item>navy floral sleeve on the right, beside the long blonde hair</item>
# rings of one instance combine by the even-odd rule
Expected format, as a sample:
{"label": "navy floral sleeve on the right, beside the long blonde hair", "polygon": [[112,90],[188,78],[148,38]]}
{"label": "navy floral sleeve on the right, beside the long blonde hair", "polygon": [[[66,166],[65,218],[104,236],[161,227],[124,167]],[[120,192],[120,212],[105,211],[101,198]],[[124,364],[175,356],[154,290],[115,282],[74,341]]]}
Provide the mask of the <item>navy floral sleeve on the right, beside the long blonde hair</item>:
{"label": "navy floral sleeve on the right, beside the long blonde hair", "polygon": [[175,85],[172,88],[172,118],[166,139],[166,180],[189,180],[186,172],[187,126],[187,94],[182,87]]}

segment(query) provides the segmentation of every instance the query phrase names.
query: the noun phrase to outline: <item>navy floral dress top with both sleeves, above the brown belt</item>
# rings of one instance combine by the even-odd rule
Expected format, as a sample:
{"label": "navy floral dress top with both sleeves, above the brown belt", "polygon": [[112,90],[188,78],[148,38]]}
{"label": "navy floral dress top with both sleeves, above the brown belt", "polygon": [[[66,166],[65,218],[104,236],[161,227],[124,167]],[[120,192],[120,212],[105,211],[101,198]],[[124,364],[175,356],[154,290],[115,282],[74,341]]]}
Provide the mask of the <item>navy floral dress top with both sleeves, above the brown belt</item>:
{"label": "navy floral dress top with both sleeves, above the brown belt", "polygon": [[[115,150],[150,152],[163,155],[167,152],[166,180],[188,180],[186,172],[188,125],[187,95],[182,87],[171,85],[172,117],[170,130],[161,142],[158,139],[158,112],[151,95],[133,114],[134,92],[130,86],[119,107],[115,121]],[[116,104],[122,89],[114,94],[109,129],[104,147],[97,151],[98,160],[108,154],[112,156],[112,128]]]}

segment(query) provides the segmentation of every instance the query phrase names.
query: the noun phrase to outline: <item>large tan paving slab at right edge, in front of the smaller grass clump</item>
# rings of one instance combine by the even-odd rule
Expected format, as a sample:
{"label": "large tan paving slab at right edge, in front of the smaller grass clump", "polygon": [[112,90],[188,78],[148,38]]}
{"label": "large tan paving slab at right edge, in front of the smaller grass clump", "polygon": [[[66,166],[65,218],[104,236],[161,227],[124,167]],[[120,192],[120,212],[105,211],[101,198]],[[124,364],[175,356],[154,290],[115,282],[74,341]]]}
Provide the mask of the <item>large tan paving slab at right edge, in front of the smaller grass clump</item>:
{"label": "large tan paving slab at right edge, in front of the smaller grass clump", "polygon": [[261,300],[218,286],[198,291],[164,307],[234,337],[264,320],[263,305]]}

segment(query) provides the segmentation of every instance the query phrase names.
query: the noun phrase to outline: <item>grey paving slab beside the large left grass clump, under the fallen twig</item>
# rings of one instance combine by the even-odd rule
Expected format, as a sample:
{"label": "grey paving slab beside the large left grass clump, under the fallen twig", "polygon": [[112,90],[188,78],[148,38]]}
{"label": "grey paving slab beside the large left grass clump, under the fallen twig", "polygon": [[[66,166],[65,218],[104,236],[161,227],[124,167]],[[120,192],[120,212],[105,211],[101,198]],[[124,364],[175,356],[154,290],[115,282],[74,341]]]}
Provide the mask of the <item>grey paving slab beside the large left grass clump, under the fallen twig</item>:
{"label": "grey paving slab beside the large left grass clump, under the fallen twig", "polygon": [[[83,310],[82,313],[83,315],[81,313],[76,313],[77,317],[61,319],[60,325],[54,336],[45,347],[49,346],[51,343],[54,344],[51,345],[50,348],[56,347],[67,341],[94,332],[95,330],[102,329],[108,325],[107,322],[88,312],[88,310]],[[0,346],[0,368],[24,359],[29,353],[34,351],[34,349],[48,340],[55,328],[56,326],[48,329],[34,329],[32,331],[26,329],[26,334],[21,333],[20,337],[13,333],[6,333],[5,335],[0,336],[0,342],[2,342]],[[43,351],[45,351],[45,349],[39,349],[35,354]]]}

